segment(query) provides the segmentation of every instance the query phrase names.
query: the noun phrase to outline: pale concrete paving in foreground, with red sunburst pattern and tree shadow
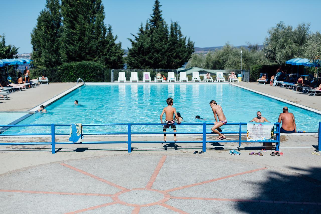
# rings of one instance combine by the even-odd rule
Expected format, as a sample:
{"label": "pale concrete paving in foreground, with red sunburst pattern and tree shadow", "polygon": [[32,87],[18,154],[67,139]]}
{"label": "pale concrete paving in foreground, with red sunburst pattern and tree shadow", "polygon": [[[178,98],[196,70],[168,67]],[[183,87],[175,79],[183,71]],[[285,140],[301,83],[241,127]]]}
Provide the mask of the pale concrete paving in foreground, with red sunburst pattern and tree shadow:
{"label": "pale concrete paving in foreground, with red sunburst pattern and tree shadow", "polygon": [[318,213],[317,136],[281,140],[283,156],[231,156],[237,146],[223,141],[203,154],[199,144],[1,146],[0,212]]}

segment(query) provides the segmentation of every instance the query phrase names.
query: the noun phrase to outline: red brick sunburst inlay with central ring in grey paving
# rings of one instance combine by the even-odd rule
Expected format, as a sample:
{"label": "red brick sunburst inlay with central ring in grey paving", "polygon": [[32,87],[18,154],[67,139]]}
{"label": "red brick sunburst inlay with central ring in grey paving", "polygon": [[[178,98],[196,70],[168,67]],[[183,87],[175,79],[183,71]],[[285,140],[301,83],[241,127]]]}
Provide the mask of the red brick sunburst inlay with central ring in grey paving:
{"label": "red brick sunburst inlay with central ring in grey paving", "polygon": [[[165,202],[168,201],[169,199],[321,205],[320,202],[317,203],[317,202],[297,202],[297,201],[263,201],[263,200],[247,200],[247,199],[196,198],[196,197],[170,196],[169,192],[172,192],[172,191],[181,190],[181,189],[184,189],[184,188],[193,187],[193,186],[197,186],[197,185],[202,185],[202,184],[210,183],[210,182],[214,182],[214,181],[219,181],[219,180],[222,180],[222,179],[227,179],[227,178],[238,176],[238,175],[242,175],[242,174],[253,173],[253,172],[257,172],[257,171],[264,170],[264,169],[267,169],[267,168],[263,167],[263,168],[259,168],[259,169],[254,169],[254,170],[250,170],[250,171],[246,171],[246,172],[241,172],[241,173],[237,173],[237,174],[224,176],[224,177],[221,177],[221,178],[215,178],[215,179],[211,179],[211,180],[208,180],[208,181],[203,181],[203,182],[199,182],[199,183],[189,184],[189,185],[186,185],[186,186],[176,187],[176,188],[172,188],[172,189],[164,190],[164,191],[152,189],[152,186],[153,186],[153,184],[154,184],[154,182],[155,182],[155,180],[157,178],[157,175],[159,174],[160,169],[162,168],[165,160],[166,160],[166,156],[162,156],[160,158],[160,161],[159,161],[158,165],[156,166],[156,168],[155,168],[155,170],[154,170],[149,182],[147,183],[146,187],[145,188],[136,188],[136,189],[127,189],[125,187],[119,186],[119,185],[117,185],[115,183],[112,183],[110,181],[107,181],[107,180],[104,180],[104,179],[102,179],[100,177],[97,177],[97,176],[95,176],[93,174],[90,174],[90,173],[87,173],[85,171],[82,171],[81,169],[75,168],[75,167],[73,167],[71,165],[68,165],[68,164],[65,164],[65,163],[61,164],[61,165],[65,166],[65,167],[68,167],[68,168],[70,168],[72,170],[80,172],[80,173],[82,173],[84,175],[88,175],[88,176],[90,176],[90,177],[92,177],[92,178],[94,178],[94,179],[96,179],[98,181],[101,181],[103,183],[106,183],[108,185],[111,185],[111,186],[116,187],[116,188],[121,190],[120,192],[117,192],[115,194],[75,193],[75,192],[43,192],[43,191],[24,191],[24,190],[0,190],[0,192],[18,192],[18,193],[34,193],[34,194],[56,194],[56,195],[80,195],[80,196],[104,196],[104,197],[111,197],[111,199],[113,200],[113,202],[110,202],[110,203],[101,204],[101,205],[97,205],[97,206],[93,206],[93,207],[89,207],[89,208],[85,208],[85,209],[81,209],[81,210],[76,210],[76,211],[73,211],[73,212],[68,212],[68,214],[81,213],[81,212],[85,212],[85,211],[89,211],[89,210],[95,210],[95,209],[99,209],[99,208],[103,208],[103,207],[108,207],[108,206],[111,206],[111,205],[114,205],[114,204],[122,204],[122,205],[125,205],[125,206],[134,207],[133,211],[132,211],[132,214],[138,214],[142,207],[149,207],[149,206],[154,206],[154,205],[160,205],[162,207],[165,207],[165,208],[167,208],[169,210],[172,210],[172,211],[175,211],[175,212],[178,212],[178,213],[184,213],[184,214],[187,213],[187,212],[179,210],[179,209],[177,209],[175,207],[172,207],[172,206],[170,206],[168,204],[165,204]],[[137,191],[137,190],[154,191],[154,192],[158,192],[158,193],[163,194],[164,197],[160,201],[156,201],[156,202],[149,203],[149,204],[130,204],[130,203],[126,203],[125,201],[119,200],[119,198],[118,198],[119,195],[121,195],[121,194],[123,194],[125,192],[133,191],[133,190],[134,191]]]}

